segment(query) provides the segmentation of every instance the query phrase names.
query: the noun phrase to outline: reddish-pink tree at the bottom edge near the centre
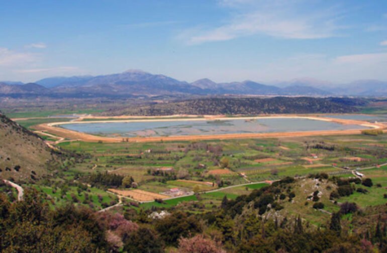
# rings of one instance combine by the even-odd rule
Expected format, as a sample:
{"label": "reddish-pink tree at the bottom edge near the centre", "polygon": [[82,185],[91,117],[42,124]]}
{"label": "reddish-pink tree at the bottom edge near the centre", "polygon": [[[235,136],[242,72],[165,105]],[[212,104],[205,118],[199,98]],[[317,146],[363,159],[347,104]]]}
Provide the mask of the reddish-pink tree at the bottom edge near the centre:
{"label": "reddish-pink tree at the bottom edge near the centre", "polygon": [[178,253],[226,253],[219,243],[198,234],[192,238],[179,239]]}

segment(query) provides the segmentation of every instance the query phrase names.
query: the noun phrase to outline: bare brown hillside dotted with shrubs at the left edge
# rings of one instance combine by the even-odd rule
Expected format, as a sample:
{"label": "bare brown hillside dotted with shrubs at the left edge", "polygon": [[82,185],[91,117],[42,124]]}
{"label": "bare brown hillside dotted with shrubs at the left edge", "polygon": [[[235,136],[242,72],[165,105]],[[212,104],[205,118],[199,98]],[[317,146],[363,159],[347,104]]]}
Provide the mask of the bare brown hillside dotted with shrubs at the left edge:
{"label": "bare brown hillside dotted with shrubs at the left edge", "polygon": [[0,112],[0,178],[30,181],[57,158],[44,141]]}

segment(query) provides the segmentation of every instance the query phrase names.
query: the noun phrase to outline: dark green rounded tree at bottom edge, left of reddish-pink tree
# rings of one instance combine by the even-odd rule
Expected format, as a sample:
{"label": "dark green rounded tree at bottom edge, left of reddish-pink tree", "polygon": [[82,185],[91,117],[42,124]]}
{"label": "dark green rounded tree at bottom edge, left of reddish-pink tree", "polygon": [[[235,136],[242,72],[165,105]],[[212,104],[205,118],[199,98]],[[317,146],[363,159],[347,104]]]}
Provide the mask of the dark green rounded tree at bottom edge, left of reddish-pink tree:
{"label": "dark green rounded tree at bottom edge, left of reddish-pink tree", "polygon": [[163,243],[153,229],[141,227],[129,234],[124,242],[124,251],[131,253],[164,252]]}

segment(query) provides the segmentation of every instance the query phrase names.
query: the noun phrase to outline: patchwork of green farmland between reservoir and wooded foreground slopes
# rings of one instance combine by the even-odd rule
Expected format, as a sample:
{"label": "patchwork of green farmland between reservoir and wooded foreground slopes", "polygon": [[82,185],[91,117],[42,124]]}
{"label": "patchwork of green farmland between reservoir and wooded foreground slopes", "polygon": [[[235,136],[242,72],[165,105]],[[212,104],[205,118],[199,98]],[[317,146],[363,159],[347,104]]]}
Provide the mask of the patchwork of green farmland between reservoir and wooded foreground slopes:
{"label": "patchwork of green farmland between reservoir and wooded foreground slopes", "polygon": [[[56,119],[48,120],[55,121]],[[41,121],[27,120],[24,123],[32,125],[36,122]],[[380,145],[387,145],[387,136],[357,135],[153,143],[86,143],[77,141],[61,143],[58,146],[64,150],[87,155],[87,158],[81,163],[75,163],[69,168],[66,174],[68,179],[77,173],[109,171],[109,173],[122,176],[131,176],[141,190],[160,193],[171,188],[193,190],[196,185],[199,186],[200,191],[214,189],[203,184],[177,181],[179,178],[213,182],[225,187],[245,184],[246,180],[260,182],[316,173],[327,173],[343,178],[350,177],[349,171],[337,167],[347,166],[355,169],[386,162],[387,159],[380,150]],[[331,147],[334,148],[331,149]],[[323,166],[308,167],[311,164],[304,158],[310,157],[311,154],[317,154],[319,157],[314,164],[323,164]],[[356,162],[343,160],[343,157],[360,157],[364,160]],[[332,164],[336,164],[337,167],[333,167]],[[162,167],[172,168],[172,174],[155,174],[155,171]],[[91,168],[94,168],[94,171],[91,171]],[[208,173],[222,168],[227,168],[235,173],[232,175],[211,175]],[[247,178],[243,179],[238,173],[244,173]],[[381,178],[375,179],[375,182],[378,180],[381,180],[380,183],[384,187],[383,180]],[[230,199],[235,199],[239,195],[249,194],[251,191],[266,185],[258,183],[220,189],[218,192],[201,194],[202,198],[198,201],[205,208],[211,209],[214,205],[219,205],[225,195]],[[368,195],[363,196],[356,193],[347,199],[340,199],[340,201],[358,201],[361,206],[382,203],[383,199],[380,198],[380,193],[383,187],[376,188],[374,186],[375,189],[372,188]],[[142,206],[144,208],[152,206],[165,208],[181,201],[196,200],[193,198],[193,196],[182,197],[176,200],[166,200],[164,203],[145,203]],[[327,203],[327,210],[335,210],[335,208]],[[314,211],[311,210],[311,212]],[[319,215],[321,218],[324,217],[324,214],[319,213]],[[314,222],[317,224],[320,221],[315,220]]]}

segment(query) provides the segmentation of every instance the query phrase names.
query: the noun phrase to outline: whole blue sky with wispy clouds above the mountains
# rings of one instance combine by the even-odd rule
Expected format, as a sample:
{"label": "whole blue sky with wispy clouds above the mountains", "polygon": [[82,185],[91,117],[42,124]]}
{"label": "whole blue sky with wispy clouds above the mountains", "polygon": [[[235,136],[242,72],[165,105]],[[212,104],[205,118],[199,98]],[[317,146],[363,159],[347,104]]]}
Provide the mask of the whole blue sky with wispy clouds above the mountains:
{"label": "whole blue sky with wispy clouds above the mountains", "polygon": [[387,80],[387,1],[0,0],[0,80]]}

